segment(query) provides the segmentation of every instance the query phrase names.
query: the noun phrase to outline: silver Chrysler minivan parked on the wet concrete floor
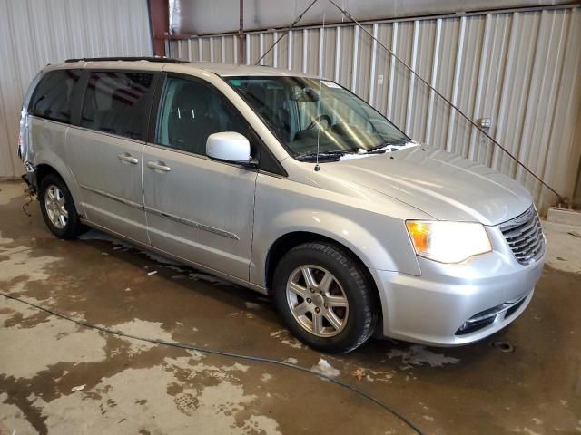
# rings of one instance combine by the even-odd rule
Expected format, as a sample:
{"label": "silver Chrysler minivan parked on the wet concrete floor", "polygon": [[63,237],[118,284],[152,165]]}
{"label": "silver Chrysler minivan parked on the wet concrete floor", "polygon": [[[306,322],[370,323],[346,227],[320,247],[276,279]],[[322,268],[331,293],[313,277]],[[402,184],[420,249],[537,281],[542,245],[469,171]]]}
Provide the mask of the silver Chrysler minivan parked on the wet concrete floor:
{"label": "silver Chrysler minivan parked on the wet concrete floor", "polygon": [[86,226],[273,300],[291,333],[454,346],[533,297],[527,190],[419,144],[336,82],[159,58],[49,65],[18,152],[47,227]]}

